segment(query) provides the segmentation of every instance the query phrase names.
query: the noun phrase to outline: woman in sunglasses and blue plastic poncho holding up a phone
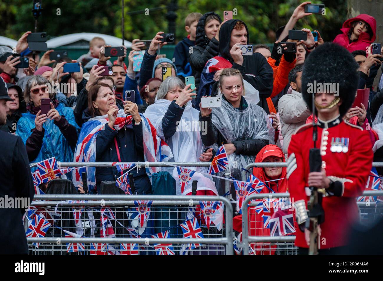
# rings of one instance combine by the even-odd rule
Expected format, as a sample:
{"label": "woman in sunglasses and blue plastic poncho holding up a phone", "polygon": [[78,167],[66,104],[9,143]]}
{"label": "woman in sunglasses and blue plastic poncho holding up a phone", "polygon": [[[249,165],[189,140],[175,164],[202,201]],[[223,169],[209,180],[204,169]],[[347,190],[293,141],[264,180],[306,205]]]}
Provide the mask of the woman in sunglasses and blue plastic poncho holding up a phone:
{"label": "woman in sunglasses and blue plastic poncho holding up a phone", "polygon": [[[73,161],[79,127],[73,109],[65,107],[55,96],[51,84],[43,76],[29,78],[24,91],[27,112],[17,123],[16,135],[25,143],[30,162],[51,157],[60,162]],[[51,99],[47,114],[42,112],[42,99]]]}

